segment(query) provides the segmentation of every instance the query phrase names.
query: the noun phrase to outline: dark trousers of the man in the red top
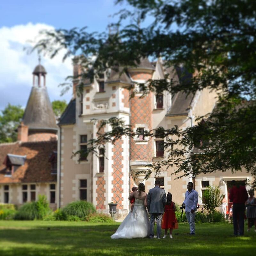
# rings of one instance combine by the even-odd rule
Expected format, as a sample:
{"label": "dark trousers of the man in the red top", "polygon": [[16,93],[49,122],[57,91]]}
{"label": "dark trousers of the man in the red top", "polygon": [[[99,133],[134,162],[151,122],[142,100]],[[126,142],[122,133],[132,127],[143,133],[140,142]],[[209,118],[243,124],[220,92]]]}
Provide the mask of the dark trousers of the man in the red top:
{"label": "dark trousers of the man in the red top", "polygon": [[[234,226],[234,235],[244,235],[244,204],[233,204],[233,226]],[[237,225],[238,224],[238,225]]]}

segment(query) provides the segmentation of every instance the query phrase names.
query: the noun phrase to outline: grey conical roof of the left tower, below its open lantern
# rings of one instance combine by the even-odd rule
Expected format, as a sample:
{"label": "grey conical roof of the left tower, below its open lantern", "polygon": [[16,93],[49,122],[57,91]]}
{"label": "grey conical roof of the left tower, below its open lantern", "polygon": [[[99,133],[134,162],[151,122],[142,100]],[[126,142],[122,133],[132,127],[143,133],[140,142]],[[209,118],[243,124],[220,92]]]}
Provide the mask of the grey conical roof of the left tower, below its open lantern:
{"label": "grey conical roof of the left tower, below its open lantern", "polygon": [[29,130],[57,131],[46,87],[32,87],[22,121]]}

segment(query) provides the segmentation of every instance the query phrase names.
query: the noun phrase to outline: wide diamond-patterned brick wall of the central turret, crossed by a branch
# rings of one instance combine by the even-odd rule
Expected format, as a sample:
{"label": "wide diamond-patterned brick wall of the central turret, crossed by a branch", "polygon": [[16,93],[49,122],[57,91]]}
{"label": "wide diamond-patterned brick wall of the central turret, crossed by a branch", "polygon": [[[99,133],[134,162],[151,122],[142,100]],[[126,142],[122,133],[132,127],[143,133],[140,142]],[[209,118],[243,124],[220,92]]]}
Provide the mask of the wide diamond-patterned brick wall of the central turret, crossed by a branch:
{"label": "wide diamond-patterned brick wall of the central turret, crossed by a branch", "polygon": [[[152,129],[152,93],[144,98],[135,96],[131,99],[131,125],[132,129],[135,128],[135,124],[145,124],[148,129]],[[148,144],[136,144],[131,139],[131,161],[152,161],[152,140],[148,141]]]}

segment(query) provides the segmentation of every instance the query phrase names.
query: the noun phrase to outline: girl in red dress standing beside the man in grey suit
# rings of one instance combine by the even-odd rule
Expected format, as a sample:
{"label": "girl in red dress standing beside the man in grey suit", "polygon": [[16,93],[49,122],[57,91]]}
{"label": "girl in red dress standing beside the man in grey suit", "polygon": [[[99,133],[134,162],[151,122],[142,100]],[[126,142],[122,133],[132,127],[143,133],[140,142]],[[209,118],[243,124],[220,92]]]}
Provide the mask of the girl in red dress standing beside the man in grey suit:
{"label": "girl in red dress standing beside the man in grey suit", "polygon": [[176,205],[172,202],[172,194],[168,192],[167,203],[164,206],[164,216],[162,220],[162,229],[164,229],[164,237],[166,238],[167,230],[170,228],[170,238],[172,238],[172,229],[178,228],[178,221],[175,216]]}

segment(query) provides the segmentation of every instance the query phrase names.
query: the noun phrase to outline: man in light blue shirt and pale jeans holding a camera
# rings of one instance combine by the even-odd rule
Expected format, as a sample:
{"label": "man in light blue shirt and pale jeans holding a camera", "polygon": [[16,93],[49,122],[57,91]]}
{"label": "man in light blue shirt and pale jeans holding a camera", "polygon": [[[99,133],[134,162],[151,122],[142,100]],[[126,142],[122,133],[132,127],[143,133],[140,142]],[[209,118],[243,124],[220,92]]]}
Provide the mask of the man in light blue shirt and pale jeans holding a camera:
{"label": "man in light blue shirt and pale jeans holding a camera", "polygon": [[193,189],[193,182],[188,182],[188,191],[182,206],[185,206],[186,217],[189,223],[190,235],[195,235],[195,215],[198,202],[198,193]]}

